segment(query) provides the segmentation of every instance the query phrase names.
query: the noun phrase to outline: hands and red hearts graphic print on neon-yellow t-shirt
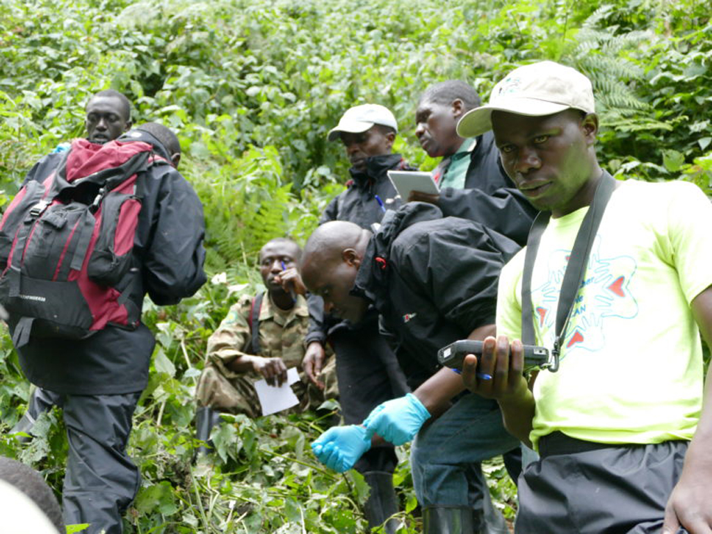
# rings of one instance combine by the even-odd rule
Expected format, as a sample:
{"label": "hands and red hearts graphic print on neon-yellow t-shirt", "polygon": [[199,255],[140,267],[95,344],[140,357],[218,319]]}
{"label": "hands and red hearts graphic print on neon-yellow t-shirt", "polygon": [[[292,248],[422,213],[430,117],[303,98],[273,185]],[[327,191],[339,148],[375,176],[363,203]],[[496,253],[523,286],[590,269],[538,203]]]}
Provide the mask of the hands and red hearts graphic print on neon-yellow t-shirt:
{"label": "hands and red hearts graphic print on neon-yellow t-shirt", "polygon": [[[570,250],[553,251],[546,265],[548,278],[532,290],[537,337],[549,347],[554,342],[556,307],[570,255]],[[630,290],[636,270],[636,261],[631,256],[602,258],[597,236],[571,311],[562,358],[579,348],[600,350],[605,342],[607,318],[632,319],[638,314],[638,302]]]}

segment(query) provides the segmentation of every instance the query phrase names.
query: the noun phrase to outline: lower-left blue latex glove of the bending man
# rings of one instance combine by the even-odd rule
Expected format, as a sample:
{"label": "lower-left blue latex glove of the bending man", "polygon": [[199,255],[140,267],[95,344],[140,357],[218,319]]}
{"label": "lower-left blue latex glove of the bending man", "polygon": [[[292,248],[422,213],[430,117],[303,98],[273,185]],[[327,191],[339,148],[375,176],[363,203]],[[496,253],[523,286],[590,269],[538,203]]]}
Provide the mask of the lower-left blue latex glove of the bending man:
{"label": "lower-left blue latex glove of the bending man", "polygon": [[338,473],[348,471],[371,448],[371,434],[363,426],[334,426],[312,444],[319,461]]}

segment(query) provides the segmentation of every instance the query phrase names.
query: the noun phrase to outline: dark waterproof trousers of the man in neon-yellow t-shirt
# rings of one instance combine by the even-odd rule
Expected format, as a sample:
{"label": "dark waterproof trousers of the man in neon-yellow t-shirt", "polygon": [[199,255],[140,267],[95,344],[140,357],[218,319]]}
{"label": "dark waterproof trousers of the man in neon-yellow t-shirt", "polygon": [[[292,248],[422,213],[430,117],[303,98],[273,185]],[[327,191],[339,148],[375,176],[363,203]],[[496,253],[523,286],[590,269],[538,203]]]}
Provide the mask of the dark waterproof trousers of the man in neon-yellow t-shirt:
{"label": "dark waterproof trousers of the man in neon-yellow t-shirt", "polygon": [[607,446],[560,432],[543,437],[540,459],[519,477],[515,533],[659,534],[688,443]]}

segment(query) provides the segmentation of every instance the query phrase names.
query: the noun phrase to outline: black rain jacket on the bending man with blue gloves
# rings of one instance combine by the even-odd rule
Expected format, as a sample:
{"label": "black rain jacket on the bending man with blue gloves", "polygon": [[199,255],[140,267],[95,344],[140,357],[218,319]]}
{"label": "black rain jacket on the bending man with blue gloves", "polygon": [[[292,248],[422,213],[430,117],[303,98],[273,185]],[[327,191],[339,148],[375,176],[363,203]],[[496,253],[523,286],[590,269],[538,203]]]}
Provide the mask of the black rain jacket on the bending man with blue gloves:
{"label": "black rain jacket on the bending man with blue gloves", "polygon": [[441,347],[494,323],[499,273],[519,248],[477,222],[443,218],[431,204],[386,214],[352,293],[370,300],[394,335],[410,387],[439,370]]}

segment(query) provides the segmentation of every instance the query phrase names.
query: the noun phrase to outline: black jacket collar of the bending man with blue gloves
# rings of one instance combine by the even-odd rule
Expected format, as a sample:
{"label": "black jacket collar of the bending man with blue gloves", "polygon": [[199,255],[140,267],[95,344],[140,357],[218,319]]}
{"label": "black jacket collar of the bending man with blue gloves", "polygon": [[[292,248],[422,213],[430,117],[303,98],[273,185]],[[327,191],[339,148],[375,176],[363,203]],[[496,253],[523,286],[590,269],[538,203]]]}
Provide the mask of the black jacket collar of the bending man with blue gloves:
{"label": "black jacket collar of the bending man with blue gloves", "polygon": [[371,236],[361,260],[352,295],[367,298],[378,310],[387,305],[390,252],[393,241],[399,234],[416,223],[442,219],[442,211],[426,202],[407,202],[397,211],[386,211],[379,230]]}

